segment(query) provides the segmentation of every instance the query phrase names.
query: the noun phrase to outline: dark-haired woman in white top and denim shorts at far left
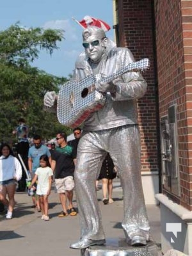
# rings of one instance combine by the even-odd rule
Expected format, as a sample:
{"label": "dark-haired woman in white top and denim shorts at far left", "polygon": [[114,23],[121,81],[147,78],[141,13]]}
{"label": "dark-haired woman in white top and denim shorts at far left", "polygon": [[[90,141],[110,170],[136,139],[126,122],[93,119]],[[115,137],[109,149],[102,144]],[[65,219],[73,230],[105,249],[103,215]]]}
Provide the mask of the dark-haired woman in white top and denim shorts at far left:
{"label": "dark-haired woman in white top and denim shorts at far left", "polygon": [[[0,147],[0,200],[8,206],[6,219],[12,219],[15,205],[15,189],[17,181],[21,179],[22,167],[13,155],[12,149],[6,143]],[[8,199],[6,198],[8,195]]]}

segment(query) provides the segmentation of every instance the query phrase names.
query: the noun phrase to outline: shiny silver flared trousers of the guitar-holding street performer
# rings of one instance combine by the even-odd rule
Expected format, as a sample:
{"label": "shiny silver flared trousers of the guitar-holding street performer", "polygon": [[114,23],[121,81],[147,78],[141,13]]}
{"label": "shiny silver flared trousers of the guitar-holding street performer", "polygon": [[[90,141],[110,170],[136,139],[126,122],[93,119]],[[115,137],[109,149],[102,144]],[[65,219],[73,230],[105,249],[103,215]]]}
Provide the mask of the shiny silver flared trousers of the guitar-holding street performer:
{"label": "shiny silver flared trousers of the guitar-holding street performer", "polygon": [[140,168],[138,125],[83,132],[77,148],[74,173],[81,237],[104,239],[101,214],[95,189],[102,161],[109,152],[117,168],[124,195],[124,228],[127,239],[142,235],[148,240],[149,225]]}

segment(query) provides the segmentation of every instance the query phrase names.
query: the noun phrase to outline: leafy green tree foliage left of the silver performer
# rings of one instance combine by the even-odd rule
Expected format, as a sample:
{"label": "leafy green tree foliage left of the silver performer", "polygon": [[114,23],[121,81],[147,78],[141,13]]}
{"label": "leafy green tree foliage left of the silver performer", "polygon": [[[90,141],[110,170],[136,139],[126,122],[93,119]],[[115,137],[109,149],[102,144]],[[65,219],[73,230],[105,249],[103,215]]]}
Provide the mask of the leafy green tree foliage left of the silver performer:
{"label": "leafy green tree foliage left of the silver performer", "polygon": [[30,65],[43,49],[52,54],[61,40],[63,31],[57,29],[24,29],[15,24],[0,31],[0,140],[13,138],[20,117],[26,119],[31,136],[38,133],[49,140],[58,131],[70,132],[55,114],[43,109],[45,92],[57,92],[67,79]]}

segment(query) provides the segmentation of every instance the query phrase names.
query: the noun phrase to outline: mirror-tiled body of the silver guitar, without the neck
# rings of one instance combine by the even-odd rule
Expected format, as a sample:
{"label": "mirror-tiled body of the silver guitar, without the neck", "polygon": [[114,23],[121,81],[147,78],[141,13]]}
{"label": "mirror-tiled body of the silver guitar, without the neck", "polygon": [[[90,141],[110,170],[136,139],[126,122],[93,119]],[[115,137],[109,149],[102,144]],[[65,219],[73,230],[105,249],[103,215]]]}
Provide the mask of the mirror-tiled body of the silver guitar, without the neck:
{"label": "mirror-tiled body of the silver guitar, without the neck", "polygon": [[90,113],[104,106],[106,98],[94,88],[82,97],[84,88],[92,86],[95,82],[95,76],[90,75],[80,81],[68,81],[62,86],[57,106],[57,116],[61,124],[75,128],[81,125]]}

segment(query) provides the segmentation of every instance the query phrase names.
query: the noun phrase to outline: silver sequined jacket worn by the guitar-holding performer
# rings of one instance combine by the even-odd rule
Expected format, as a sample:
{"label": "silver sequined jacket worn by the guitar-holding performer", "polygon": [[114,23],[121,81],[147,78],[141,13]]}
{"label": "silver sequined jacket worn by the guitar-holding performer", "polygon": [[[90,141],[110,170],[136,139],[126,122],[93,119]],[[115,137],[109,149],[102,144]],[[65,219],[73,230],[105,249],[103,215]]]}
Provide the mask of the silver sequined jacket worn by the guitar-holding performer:
{"label": "silver sequined jacket worn by the guitar-holding performer", "polygon": [[[134,61],[131,51],[127,48],[113,47],[106,52],[100,65],[100,74],[109,76],[120,68]],[[83,79],[93,74],[92,63],[81,53],[76,61],[74,79]],[[113,83],[115,93],[107,93],[106,104],[99,111],[92,113],[85,121],[84,131],[100,131],[127,124],[138,123],[137,99],[147,91],[147,83],[140,72],[128,72]]]}

